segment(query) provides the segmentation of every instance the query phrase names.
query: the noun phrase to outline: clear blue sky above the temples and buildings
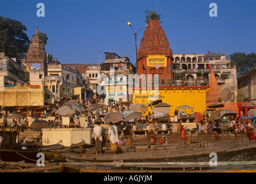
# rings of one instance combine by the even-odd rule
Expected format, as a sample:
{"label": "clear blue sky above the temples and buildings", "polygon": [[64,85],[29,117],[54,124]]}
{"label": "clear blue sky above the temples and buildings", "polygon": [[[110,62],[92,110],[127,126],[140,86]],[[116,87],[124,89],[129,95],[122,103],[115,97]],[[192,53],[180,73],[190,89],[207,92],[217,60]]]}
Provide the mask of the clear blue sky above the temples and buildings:
{"label": "clear blue sky above the temples and buildings", "polygon": [[[37,17],[37,3],[44,3],[45,17]],[[210,3],[216,3],[217,17],[209,16]],[[255,0],[2,0],[0,16],[21,21],[29,39],[38,25],[48,35],[46,52],[63,64],[102,63],[104,52],[135,63],[127,21],[137,32],[153,4],[173,53],[256,52]],[[138,48],[143,32],[137,34]]]}

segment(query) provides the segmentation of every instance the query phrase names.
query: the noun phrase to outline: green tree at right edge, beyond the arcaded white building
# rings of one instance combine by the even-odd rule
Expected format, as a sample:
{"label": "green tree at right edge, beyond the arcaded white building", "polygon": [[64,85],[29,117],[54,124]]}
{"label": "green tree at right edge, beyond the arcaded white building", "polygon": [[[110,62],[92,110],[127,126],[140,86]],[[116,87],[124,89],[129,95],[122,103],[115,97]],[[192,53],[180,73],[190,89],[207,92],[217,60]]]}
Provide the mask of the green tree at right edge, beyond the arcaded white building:
{"label": "green tree at right edge, beyond the arcaded white building", "polygon": [[230,55],[231,66],[236,66],[238,76],[256,67],[256,53],[246,55],[244,52],[234,52]]}

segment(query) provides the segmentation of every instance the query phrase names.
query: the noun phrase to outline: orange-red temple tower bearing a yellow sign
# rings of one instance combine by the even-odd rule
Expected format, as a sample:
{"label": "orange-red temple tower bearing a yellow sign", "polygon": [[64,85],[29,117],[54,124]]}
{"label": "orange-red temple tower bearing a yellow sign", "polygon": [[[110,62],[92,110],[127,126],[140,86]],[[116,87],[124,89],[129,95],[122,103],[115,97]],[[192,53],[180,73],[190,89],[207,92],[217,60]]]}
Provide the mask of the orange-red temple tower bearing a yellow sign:
{"label": "orange-red temple tower bearing a yellow sign", "polygon": [[137,74],[152,74],[152,79],[154,74],[158,74],[160,83],[170,84],[173,80],[172,55],[173,51],[158,19],[150,19],[137,51]]}

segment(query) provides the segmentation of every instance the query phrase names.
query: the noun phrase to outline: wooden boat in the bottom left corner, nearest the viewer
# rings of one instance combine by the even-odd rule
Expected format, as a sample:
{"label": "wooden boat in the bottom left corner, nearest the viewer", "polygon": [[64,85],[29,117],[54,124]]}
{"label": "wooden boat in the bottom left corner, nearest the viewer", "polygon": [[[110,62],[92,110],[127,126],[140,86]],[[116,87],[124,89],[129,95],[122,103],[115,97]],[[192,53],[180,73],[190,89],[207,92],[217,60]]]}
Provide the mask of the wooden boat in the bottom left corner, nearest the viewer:
{"label": "wooden boat in the bottom left corner, nearest the viewer", "polygon": [[0,162],[0,173],[61,173],[64,163],[37,166],[25,162]]}

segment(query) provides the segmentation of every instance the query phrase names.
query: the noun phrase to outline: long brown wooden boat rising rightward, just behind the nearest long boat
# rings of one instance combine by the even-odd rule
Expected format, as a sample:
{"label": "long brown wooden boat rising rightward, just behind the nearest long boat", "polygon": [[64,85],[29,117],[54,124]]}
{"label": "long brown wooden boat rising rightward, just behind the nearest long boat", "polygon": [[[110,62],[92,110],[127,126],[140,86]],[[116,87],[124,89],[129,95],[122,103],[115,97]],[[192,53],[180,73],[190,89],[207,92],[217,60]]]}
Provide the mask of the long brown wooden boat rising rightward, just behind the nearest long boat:
{"label": "long brown wooden boat rising rightward, just behind the nearest long boat", "polygon": [[256,140],[233,143],[212,142],[167,146],[165,150],[124,152],[123,154],[71,154],[63,153],[67,162],[209,162],[209,154],[216,153],[220,161],[246,161],[256,159]]}

